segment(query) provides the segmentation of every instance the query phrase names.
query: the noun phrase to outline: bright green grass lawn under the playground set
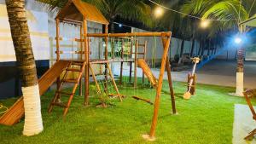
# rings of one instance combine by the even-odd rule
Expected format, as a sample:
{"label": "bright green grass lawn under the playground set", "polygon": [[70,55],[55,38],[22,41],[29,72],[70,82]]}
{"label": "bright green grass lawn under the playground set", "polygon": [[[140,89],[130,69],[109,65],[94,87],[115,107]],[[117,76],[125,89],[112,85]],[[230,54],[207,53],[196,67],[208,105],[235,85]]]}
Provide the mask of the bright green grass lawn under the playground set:
{"label": "bright green grass lawn under the playground set", "polygon": [[[90,107],[84,107],[84,98],[76,95],[66,118],[63,109],[54,107],[48,113],[49,101],[54,90],[42,96],[44,131],[35,136],[22,135],[22,120],[15,126],[0,125],[0,143],[166,143],[210,144],[231,143],[234,104],[245,104],[244,98],[228,95],[234,88],[198,84],[196,95],[189,101],[182,98],[185,84],[175,82],[177,115],[172,115],[168,84],[164,81],[156,130],[156,141],[142,138],[150,129],[154,106],[131,98],[138,95],[154,101],[155,90],[140,85],[140,89],[119,88],[127,95],[123,102],[113,100],[108,108],[96,108],[99,102],[90,97]],[[67,89],[68,90],[68,89]],[[10,105],[15,99],[0,101]]]}

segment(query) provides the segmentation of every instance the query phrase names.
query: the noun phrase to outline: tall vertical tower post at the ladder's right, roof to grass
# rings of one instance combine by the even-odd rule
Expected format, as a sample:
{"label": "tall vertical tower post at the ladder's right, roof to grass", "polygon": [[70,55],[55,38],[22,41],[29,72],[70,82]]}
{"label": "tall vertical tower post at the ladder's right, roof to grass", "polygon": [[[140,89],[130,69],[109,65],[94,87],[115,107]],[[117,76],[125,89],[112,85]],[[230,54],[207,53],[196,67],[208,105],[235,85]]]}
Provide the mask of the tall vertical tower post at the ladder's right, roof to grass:
{"label": "tall vertical tower post at the ladder's right, roof to grass", "polygon": [[84,68],[84,105],[89,105],[89,49],[87,41],[87,20],[84,18],[83,21],[84,28],[84,60],[86,66]]}

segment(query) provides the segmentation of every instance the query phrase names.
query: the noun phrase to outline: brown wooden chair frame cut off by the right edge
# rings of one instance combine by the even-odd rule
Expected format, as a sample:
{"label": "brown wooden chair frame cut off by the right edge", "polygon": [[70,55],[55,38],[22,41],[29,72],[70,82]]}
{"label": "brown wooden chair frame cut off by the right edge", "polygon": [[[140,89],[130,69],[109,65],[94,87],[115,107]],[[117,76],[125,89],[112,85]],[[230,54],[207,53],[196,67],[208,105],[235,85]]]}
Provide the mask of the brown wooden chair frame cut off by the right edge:
{"label": "brown wooden chair frame cut off by the right edge", "polygon": [[[252,114],[253,114],[253,119],[256,120],[256,112],[253,108],[253,104],[251,99],[256,95],[256,89],[247,89],[246,91],[243,92],[243,95],[247,101],[247,105],[250,108]],[[247,141],[252,141],[253,136],[256,134],[256,129],[251,131],[244,139]]]}

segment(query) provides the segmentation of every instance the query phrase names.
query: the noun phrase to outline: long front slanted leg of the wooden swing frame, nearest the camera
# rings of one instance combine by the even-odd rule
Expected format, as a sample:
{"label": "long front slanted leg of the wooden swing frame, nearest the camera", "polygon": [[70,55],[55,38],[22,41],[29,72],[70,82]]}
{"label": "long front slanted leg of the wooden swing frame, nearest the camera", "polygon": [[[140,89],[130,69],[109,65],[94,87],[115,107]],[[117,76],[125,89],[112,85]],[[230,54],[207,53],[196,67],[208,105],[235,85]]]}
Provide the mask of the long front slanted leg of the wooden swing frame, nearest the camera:
{"label": "long front slanted leg of the wooden swing frame, nearest the camera", "polygon": [[152,118],[152,124],[151,124],[150,133],[149,133],[149,138],[150,139],[154,139],[154,135],[155,135],[155,128],[156,128],[156,124],[157,124],[158,111],[159,111],[159,107],[160,107],[160,93],[161,93],[161,90],[162,90],[163,78],[164,78],[165,67],[166,67],[166,57],[167,57],[170,42],[171,42],[171,36],[167,38],[165,48],[164,48],[164,53],[162,55],[159,81],[158,81],[158,86],[157,86],[157,89],[156,89],[156,95],[155,95],[155,100],[154,100],[154,115],[153,115],[153,118]]}

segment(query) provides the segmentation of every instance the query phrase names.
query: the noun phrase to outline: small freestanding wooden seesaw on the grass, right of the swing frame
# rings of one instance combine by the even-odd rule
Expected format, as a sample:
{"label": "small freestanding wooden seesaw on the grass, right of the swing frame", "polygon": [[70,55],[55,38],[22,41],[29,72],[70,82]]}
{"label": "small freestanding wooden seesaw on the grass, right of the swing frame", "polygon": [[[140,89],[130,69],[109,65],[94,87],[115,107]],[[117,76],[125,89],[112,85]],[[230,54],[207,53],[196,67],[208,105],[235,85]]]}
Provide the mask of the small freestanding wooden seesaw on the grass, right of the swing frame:
{"label": "small freestanding wooden seesaw on the grass, right of the swing frame", "polygon": [[188,89],[187,92],[183,95],[183,99],[190,99],[191,95],[195,95],[195,84],[196,84],[196,74],[195,68],[199,63],[200,59],[198,57],[192,58],[194,66],[192,68],[192,72],[188,74]]}

